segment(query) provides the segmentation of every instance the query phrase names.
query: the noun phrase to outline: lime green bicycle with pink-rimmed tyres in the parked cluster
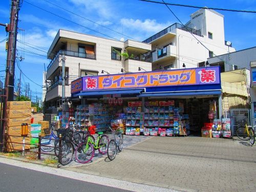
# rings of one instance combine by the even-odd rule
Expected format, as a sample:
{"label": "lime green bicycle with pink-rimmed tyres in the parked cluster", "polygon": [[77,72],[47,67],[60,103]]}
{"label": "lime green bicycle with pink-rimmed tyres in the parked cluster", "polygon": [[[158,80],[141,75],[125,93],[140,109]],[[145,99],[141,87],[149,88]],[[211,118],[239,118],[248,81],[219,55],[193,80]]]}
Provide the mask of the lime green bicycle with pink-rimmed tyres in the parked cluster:
{"label": "lime green bicycle with pink-rimmed tyres in the parked cluster", "polygon": [[97,141],[92,135],[89,135],[84,142],[80,143],[75,149],[75,157],[79,163],[88,163],[94,157],[95,150],[98,150],[100,154],[106,154],[109,137],[102,135],[103,132],[98,132],[99,136]]}

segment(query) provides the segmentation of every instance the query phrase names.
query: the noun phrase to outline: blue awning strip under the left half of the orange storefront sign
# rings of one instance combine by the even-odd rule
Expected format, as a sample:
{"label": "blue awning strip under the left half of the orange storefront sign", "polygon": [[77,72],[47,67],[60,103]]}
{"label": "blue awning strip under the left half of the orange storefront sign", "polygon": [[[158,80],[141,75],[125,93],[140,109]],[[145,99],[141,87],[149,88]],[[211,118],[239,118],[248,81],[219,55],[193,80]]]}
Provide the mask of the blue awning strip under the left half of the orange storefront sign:
{"label": "blue awning strip under the left half of the orange storefront sign", "polygon": [[100,91],[84,91],[74,96],[98,96],[98,95],[114,95],[114,94],[123,94],[123,95],[130,95],[130,94],[141,94],[144,89],[127,89],[127,90],[100,90]]}

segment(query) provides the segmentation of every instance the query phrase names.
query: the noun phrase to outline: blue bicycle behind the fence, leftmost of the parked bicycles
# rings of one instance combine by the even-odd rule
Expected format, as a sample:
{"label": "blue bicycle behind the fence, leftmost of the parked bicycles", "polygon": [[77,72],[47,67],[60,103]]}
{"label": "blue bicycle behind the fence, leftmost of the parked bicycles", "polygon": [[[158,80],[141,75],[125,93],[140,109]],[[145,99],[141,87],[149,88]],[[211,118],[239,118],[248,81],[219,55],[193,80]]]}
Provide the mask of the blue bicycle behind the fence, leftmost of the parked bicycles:
{"label": "blue bicycle behind the fence, leftmost of the parked bicycles", "polygon": [[41,150],[44,152],[51,152],[54,150],[56,144],[58,143],[58,137],[53,133],[53,123],[51,123],[51,134],[43,137],[41,139]]}

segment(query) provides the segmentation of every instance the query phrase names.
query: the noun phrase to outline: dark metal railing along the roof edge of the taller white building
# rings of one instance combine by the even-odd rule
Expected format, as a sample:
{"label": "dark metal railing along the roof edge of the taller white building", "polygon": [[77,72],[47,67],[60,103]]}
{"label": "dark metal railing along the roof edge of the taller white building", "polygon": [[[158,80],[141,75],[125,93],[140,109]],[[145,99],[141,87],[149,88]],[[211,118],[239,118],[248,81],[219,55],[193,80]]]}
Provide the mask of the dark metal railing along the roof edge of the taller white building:
{"label": "dark metal railing along the roof edge of the taller white building", "polygon": [[196,29],[192,29],[190,27],[187,27],[187,26],[184,26],[184,25],[181,25],[179,23],[175,23],[167,28],[165,28],[164,30],[158,32],[157,34],[151,36],[150,38],[147,38],[146,40],[143,40],[142,42],[152,42],[153,40],[165,35],[166,33],[169,33],[175,29],[181,29],[183,31],[187,31],[187,32],[190,32],[190,33],[193,33],[195,35],[198,35],[198,36],[201,36],[201,30],[196,30]]}

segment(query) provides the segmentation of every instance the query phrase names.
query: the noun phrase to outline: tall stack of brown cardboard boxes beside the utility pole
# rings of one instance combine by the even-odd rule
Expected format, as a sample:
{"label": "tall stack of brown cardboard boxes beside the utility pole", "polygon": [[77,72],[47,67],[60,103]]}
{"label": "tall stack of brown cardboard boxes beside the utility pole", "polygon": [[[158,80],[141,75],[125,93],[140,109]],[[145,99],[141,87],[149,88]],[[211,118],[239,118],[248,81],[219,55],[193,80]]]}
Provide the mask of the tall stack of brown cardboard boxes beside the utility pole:
{"label": "tall stack of brown cardboard boxes beside the utility pole", "polygon": [[[28,132],[30,136],[30,118],[31,118],[31,102],[30,101],[8,101],[7,102],[7,133],[8,143],[7,151],[22,150],[23,137],[17,137],[21,134],[22,123],[28,123]],[[15,143],[10,143],[15,142]],[[25,143],[30,143],[30,138],[25,139]],[[25,145],[25,149],[28,150],[30,145]]]}

